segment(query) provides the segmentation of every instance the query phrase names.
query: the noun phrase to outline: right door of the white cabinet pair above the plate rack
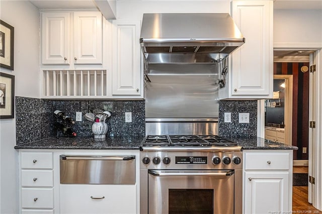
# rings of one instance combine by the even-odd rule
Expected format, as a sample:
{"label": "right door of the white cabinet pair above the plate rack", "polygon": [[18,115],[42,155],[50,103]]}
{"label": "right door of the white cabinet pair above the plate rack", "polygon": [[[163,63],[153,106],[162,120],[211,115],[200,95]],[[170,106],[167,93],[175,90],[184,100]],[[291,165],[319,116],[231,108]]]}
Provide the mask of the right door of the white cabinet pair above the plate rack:
{"label": "right door of the white cabinet pair above the plate rack", "polygon": [[103,26],[100,12],[74,12],[74,64],[102,64]]}

